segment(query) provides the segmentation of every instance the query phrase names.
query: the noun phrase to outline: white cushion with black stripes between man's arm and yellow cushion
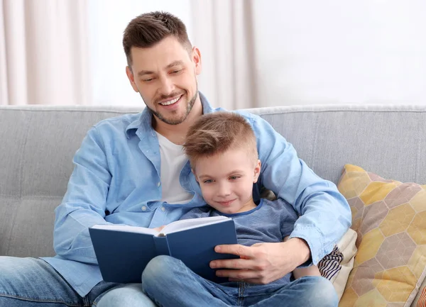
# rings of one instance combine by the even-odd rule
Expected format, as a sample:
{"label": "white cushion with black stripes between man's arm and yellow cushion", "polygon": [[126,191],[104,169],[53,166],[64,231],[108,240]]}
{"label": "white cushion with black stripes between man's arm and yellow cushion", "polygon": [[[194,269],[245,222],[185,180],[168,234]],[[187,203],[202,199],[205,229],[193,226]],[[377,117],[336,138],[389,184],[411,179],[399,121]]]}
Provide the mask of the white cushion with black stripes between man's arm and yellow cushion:
{"label": "white cushion with black stripes between man's arm and yellow cushion", "polygon": [[339,299],[342,298],[349,273],[354,267],[356,255],[356,232],[349,229],[343,238],[337,243],[333,251],[318,263],[321,276],[332,281]]}

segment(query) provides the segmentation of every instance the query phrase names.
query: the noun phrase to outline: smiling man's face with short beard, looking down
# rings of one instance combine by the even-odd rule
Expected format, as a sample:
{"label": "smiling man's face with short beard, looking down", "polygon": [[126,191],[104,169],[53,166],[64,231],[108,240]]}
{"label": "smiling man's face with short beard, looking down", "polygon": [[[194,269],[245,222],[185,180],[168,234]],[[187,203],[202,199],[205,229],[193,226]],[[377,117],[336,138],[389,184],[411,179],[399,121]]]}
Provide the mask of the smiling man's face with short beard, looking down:
{"label": "smiling man's face with short beard, looking down", "polygon": [[131,48],[131,58],[131,86],[155,117],[170,125],[185,121],[198,98],[199,50],[188,52],[169,36],[151,48]]}

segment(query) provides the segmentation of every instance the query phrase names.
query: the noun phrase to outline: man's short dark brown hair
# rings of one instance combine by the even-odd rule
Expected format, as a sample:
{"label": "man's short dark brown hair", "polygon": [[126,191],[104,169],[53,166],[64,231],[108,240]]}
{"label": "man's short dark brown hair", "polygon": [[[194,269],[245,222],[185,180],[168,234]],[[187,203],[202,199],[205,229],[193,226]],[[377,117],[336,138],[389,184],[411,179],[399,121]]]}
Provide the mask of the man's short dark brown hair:
{"label": "man's short dark brown hair", "polygon": [[133,18],[124,30],[123,48],[127,57],[127,65],[131,67],[131,48],[149,48],[168,36],[174,36],[187,48],[192,45],[187,35],[185,23],[168,12],[155,11],[143,13]]}

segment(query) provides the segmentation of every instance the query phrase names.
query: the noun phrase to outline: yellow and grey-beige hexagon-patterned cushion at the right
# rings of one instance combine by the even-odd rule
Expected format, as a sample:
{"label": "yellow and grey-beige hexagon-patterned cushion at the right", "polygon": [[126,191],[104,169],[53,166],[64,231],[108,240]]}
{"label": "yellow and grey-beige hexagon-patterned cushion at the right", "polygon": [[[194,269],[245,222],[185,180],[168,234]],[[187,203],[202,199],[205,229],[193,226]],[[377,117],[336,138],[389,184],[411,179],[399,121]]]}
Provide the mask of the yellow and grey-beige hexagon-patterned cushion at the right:
{"label": "yellow and grey-beige hexagon-patterned cushion at the right", "polygon": [[339,307],[403,307],[426,275],[426,185],[385,180],[345,165],[338,184],[358,234]]}

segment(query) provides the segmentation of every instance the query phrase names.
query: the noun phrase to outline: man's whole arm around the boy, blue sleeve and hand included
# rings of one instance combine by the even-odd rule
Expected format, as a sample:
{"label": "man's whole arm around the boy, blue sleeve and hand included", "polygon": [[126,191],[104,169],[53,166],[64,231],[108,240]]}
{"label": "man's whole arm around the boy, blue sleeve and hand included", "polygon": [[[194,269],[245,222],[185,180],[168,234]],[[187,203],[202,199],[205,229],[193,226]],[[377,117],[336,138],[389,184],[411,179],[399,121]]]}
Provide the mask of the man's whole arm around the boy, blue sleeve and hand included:
{"label": "man's whole arm around the boy, blue sleeve and hand included", "polygon": [[299,160],[293,145],[268,122],[247,117],[258,141],[261,184],[290,203],[300,218],[287,242],[219,245],[216,252],[239,255],[240,259],[215,260],[210,266],[231,281],[268,284],[301,264],[317,264],[331,252],[351,225],[351,211],[337,187]]}

